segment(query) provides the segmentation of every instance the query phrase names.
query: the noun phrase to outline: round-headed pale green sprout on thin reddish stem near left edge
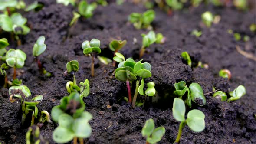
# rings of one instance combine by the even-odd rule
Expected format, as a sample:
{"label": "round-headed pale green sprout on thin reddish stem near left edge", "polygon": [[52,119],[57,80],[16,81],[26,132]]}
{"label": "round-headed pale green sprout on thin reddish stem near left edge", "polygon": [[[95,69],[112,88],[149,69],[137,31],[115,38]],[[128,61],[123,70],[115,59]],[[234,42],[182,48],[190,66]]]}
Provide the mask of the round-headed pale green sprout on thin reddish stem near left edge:
{"label": "round-headed pale green sprout on thin reddish stem near left edge", "polygon": [[25,64],[26,53],[20,49],[9,49],[6,53],[6,63],[13,67],[13,79],[16,79],[16,68],[22,68]]}

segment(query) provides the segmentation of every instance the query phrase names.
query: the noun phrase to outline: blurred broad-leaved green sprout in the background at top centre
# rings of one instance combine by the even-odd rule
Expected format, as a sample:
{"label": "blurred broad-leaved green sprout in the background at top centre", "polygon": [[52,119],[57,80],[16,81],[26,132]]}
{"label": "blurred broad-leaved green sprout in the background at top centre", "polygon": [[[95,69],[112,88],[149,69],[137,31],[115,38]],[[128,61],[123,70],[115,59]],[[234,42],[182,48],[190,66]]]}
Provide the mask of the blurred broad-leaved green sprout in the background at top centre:
{"label": "blurred broad-leaved green sprout in the background at top centre", "polygon": [[133,23],[136,29],[151,29],[151,22],[155,18],[154,10],[147,10],[144,13],[131,13],[128,17],[129,22]]}

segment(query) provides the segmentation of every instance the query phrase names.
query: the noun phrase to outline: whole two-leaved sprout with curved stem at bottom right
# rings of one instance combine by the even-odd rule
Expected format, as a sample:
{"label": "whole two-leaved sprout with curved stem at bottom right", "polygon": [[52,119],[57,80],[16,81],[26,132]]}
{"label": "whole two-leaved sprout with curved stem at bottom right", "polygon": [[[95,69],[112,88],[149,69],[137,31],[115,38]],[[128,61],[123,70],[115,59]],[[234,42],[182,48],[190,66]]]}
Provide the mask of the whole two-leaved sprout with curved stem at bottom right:
{"label": "whole two-leaved sprout with curved stem at bottom right", "polygon": [[186,112],[186,108],[185,108],[184,101],[180,98],[174,98],[173,107],[172,107],[173,117],[177,121],[181,122],[179,131],[177,134],[177,138],[174,141],[174,143],[179,143],[181,139],[182,129],[185,127],[186,124],[194,132],[201,132],[205,128],[205,122],[204,122],[205,115],[203,114],[202,111],[197,109],[189,111],[187,113],[187,119],[185,119],[185,112]]}

